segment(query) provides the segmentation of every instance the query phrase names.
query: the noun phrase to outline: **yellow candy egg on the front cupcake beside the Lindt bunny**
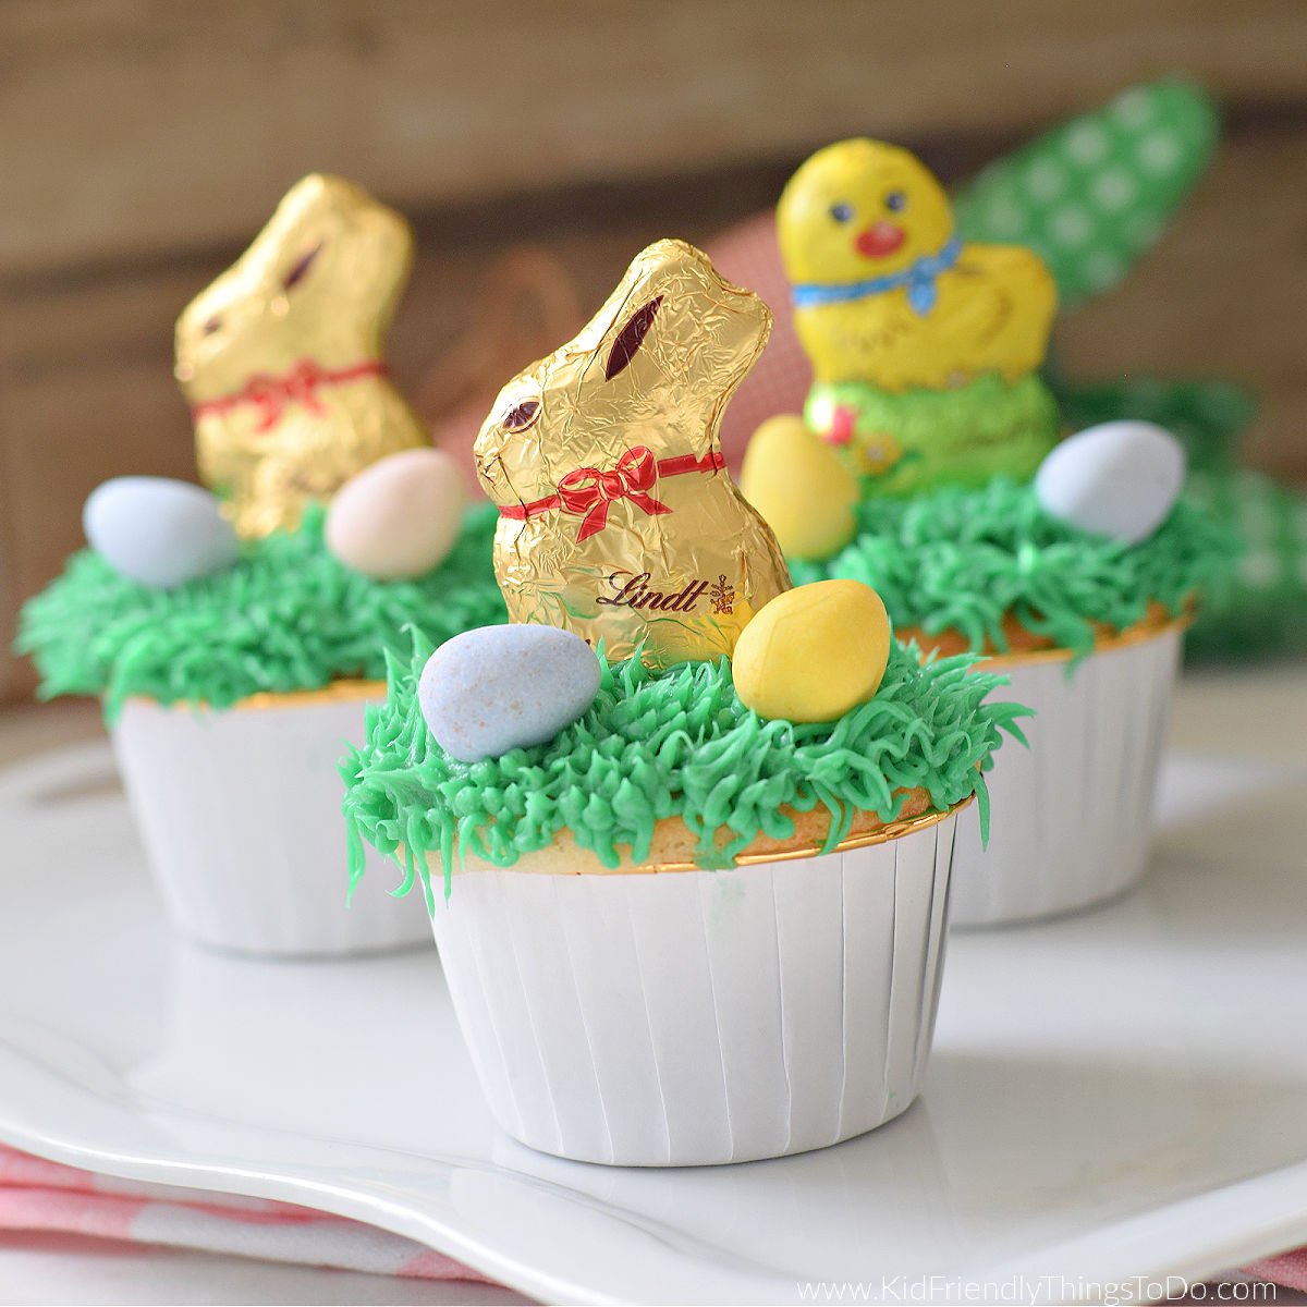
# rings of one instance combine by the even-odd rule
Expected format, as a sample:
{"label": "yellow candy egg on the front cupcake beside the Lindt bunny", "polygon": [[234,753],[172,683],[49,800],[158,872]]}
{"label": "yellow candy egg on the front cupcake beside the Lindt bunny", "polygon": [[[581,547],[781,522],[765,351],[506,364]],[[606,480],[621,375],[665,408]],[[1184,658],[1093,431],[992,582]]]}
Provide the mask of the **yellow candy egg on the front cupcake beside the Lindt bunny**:
{"label": "yellow candy egg on the front cupcake beside the Lindt bunny", "polygon": [[859,580],[819,580],[778,595],[732,655],[736,694],[761,718],[834,721],[885,676],[890,620]]}

